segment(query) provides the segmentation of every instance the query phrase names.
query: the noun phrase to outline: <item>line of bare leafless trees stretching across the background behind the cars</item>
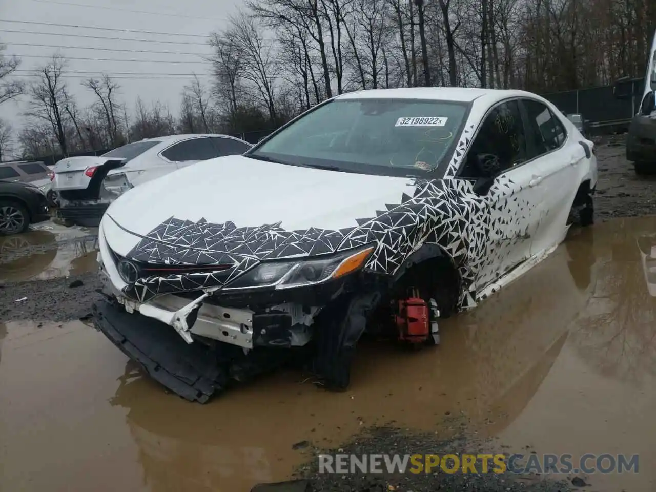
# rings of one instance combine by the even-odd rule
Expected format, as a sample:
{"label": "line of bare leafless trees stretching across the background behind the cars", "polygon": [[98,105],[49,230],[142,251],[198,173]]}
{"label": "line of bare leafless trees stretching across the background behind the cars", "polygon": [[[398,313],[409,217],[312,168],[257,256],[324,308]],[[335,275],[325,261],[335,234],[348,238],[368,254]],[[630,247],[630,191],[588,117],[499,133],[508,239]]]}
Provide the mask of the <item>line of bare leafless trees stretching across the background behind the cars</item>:
{"label": "line of bare leafless trees stretching across the background behind the cars", "polygon": [[[0,103],[28,101],[15,138],[22,154],[67,154],[161,134],[272,129],[359,89],[607,85],[644,76],[655,30],[653,0],[248,0],[210,34],[213,77],[190,74],[176,115],[140,99],[128,110],[110,75],[84,81],[96,102],[77,108],[58,55],[27,84],[3,82],[20,62],[3,58]],[[3,134],[7,125],[0,156],[11,141]]]}

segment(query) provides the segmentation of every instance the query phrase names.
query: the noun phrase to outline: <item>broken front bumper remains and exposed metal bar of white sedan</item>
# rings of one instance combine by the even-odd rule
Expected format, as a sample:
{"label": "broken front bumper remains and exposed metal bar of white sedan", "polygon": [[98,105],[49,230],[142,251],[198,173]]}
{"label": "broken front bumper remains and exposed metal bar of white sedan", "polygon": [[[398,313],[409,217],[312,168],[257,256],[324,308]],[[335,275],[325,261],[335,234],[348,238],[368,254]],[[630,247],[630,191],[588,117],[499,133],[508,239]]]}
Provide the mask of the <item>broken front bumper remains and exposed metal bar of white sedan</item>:
{"label": "broken front bumper remains and exposed metal bar of white sedan", "polygon": [[[102,253],[107,247],[102,231],[99,239]],[[314,354],[311,369],[319,377],[337,377],[348,384],[348,365],[365,326],[365,310],[375,306],[369,297],[359,297],[359,304],[350,305],[352,277],[297,289],[291,296],[295,302],[283,302],[290,295],[280,292],[215,297],[217,287],[165,293],[138,302],[112,283],[107,267],[113,265],[105,265],[101,253],[98,262],[106,299],[94,304],[96,329],[183,398],[205,403],[230,380],[251,379],[298,354],[275,348],[305,346],[316,335],[321,348]],[[327,310],[320,307],[328,304]],[[318,321],[322,311],[329,323]]]}

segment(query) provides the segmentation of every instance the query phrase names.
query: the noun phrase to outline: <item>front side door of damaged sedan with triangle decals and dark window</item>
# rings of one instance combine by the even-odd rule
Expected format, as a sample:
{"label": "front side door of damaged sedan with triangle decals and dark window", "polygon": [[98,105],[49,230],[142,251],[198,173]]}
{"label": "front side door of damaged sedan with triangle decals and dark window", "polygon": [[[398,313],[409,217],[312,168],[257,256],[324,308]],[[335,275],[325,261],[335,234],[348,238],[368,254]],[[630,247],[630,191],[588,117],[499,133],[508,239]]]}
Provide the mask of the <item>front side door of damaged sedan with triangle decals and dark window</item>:
{"label": "front side door of damaged sedan with triangle decals and dark window", "polygon": [[[525,166],[527,146],[518,100],[505,100],[493,106],[480,125],[457,178],[475,181],[481,177],[472,163],[474,155],[495,155],[501,161],[501,173],[489,192],[476,197],[482,210],[472,213],[480,220],[470,222],[468,236],[476,250],[470,258],[476,265],[474,285],[480,291],[529,257],[535,230],[535,200],[529,186],[531,171]],[[481,200],[482,198],[482,200]]]}

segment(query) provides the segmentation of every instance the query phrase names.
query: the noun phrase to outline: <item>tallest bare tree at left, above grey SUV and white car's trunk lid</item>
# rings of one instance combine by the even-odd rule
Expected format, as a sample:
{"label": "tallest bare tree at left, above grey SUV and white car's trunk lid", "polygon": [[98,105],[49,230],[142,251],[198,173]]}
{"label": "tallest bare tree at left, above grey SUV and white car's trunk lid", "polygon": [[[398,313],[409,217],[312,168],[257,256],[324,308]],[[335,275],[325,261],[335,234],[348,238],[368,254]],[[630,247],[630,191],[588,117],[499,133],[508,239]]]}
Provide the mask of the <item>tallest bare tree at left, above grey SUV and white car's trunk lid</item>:
{"label": "tallest bare tree at left, above grey SUV and white car's trunk lid", "polygon": [[29,110],[24,114],[33,119],[46,121],[57,139],[62,154],[68,155],[64,131],[66,84],[62,79],[63,70],[64,58],[59,55],[52,56],[50,62],[37,70],[38,75],[30,85]]}

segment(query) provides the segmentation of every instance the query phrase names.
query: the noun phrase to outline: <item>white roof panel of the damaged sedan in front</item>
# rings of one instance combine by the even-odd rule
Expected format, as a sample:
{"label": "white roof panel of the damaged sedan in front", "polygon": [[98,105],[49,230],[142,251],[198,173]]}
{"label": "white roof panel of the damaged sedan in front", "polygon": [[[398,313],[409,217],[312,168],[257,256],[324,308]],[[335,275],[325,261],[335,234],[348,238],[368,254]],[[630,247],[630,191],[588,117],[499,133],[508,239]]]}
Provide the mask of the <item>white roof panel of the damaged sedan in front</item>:
{"label": "white roof panel of the damaged sedan in front", "polygon": [[514,89],[476,89],[470,87],[403,87],[401,89],[368,89],[366,91],[340,94],[336,99],[361,98],[402,98],[402,99],[434,99],[457,102],[472,102],[481,96],[491,100],[501,100],[512,96],[534,96],[531,92]]}

